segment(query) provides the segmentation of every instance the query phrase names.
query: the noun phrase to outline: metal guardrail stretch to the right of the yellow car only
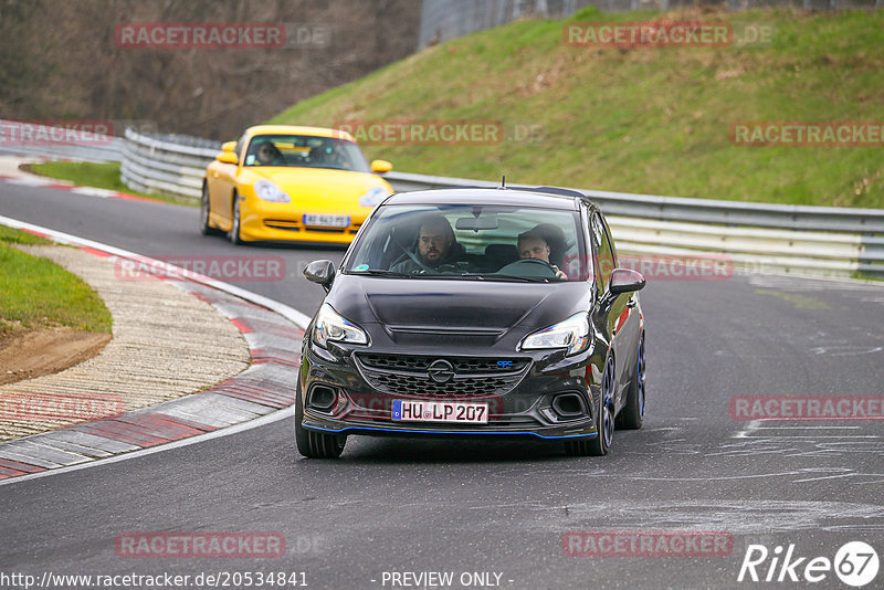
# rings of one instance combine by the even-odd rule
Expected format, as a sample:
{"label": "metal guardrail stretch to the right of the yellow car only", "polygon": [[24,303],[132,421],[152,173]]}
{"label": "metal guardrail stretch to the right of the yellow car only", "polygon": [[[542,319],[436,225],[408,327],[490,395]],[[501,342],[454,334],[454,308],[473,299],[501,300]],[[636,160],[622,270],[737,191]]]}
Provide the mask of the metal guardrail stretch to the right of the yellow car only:
{"label": "metal guardrail stretch to the right of the yellow car only", "polygon": [[[388,172],[396,190],[499,182]],[[577,190],[604,211],[623,252],[727,254],[750,271],[884,278],[884,210],[782,206]],[[875,234],[883,234],[881,236]]]}

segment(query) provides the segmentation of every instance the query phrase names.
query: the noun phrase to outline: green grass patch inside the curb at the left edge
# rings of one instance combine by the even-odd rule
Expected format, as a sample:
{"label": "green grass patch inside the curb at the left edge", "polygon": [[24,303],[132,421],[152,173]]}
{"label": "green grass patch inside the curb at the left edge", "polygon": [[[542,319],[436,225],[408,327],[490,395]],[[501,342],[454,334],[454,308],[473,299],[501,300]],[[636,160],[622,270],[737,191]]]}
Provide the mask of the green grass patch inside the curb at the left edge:
{"label": "green grass patch inside the curb at the left edge", "polygon": [[20,328],[54,326],[110,333],[110,312],[90,285],[54,262],[17,250],[12,243],[49,242],[0,225],[0,337]]}

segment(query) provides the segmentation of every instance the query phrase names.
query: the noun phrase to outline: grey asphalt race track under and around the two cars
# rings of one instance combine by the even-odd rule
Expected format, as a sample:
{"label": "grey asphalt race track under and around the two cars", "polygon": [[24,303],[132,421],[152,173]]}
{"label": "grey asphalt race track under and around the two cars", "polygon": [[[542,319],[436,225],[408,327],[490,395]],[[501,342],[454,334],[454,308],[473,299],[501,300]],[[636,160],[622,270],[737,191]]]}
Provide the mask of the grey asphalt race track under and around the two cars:
{"label": "grey asphalt race track under and around the two cars", "polygon": [[[234,247],[200,236],[194,208],[10,183],[0,183],[0,215],[150,256],[281,256],[285,281],[232,282],[308,315],[324,292],[303,278],[303,265],[343,254]],[[791,570],[802,587],[804,566],[833,560],[848,541],[881,554],[884,422],[749,422],[732,418],[729,407],[739,396],[880,400],[884,288],[738,274],[652,280],[641,297],[648,414],[643,430],[615,432],[607,457],[569,459],[561,443],[541,441],[351,438],[339,461],[307,461],[286,419],[0,486],[0,570],[191,580],[304,572],[298,580],[315,589],[443,588],[393,576],[436,571],[453,572],[452,588],[755,588],[782,584],[737,581],[750,545],[770,551],[760,577],[777,546],[781,562],[793,545],[792,560],[806,558]],[[612,530],[716,531],[733,547],[702,557],[583,557],[562,548],[569,531]],[[285,537],[286,554],[118,557],[115,539],[131,531],[273,531]],[[484,572],[487,579],[473,576]],[[780,573],[778,563],[774,579]],[[823,573],[810,586],[848,588],[834,571]],[[867,588],[882,580],[884,571]]]}

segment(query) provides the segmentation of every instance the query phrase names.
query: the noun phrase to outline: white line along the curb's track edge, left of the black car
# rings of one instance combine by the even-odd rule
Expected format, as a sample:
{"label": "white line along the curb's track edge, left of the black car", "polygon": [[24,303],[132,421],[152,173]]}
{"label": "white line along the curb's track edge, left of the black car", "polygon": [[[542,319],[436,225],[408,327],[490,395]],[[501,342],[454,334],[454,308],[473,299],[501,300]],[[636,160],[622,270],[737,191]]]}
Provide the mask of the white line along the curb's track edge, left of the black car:
{"label": "white line along the curb's track edge, left of the black car", "polygon": [[218,281],[214,278],[210,278],[208,276],[203,276],[198,273],[193,273],[191,271],[187,271],[173,264],[169,264],[167,262],[154,260],[147,256],[143,256],[141,254],[136,254],[135,252],[129,252],[128,250],[123,250],[119,247],[115,247],[112,245],[103,244],[101,242],[95,242],[93,240],[87,240],[85,238],[80,238],[76,235],[72,235],[70,233],[59,232],[55,230],[50,230],[49,228],[43,228],[41,225],[34,225],[33,223],[28,223],[25,221],[19,221],[17,219],[7,218],[0,215],[0,223],[3,225],[9,225],[10,228],[15,228],[18,230],[31,230],[44,235],[49,235],[53,240],[56,240],[62,243],[92,247],[94,250],[99,250],[102,252],[106,252],[108,254],[113,254],[116,256],[134,260],[136,262],[144,262],[149,264],[154,268],[165,268],[168,274],[178,274],[181,277],[186,277],[192,280],[196,283],[201,283],[203,285],[208,285],[210,287],[214,287],[219,291],[223,291],[231,295],[235,295],[236,297],[241,297],[245,301],[252,302],[254,304],[261,305],[276,312],[281,316],[285,317],[286,319],[291,320],[293,324],[298,326],[301,329],[306,329],[307,325],[311,323],[311,317],[306,314],[302,314],[294,307],[290,307],[284,303],[280,303],[277,301],[271,299],[270,297],[265,297],[263,295],[259,295],[257,293],[252,293],[251,291],[246,291],[244,288],[240,288],[235,285],[231,285],[229,283],[224,283],[223,281]]}

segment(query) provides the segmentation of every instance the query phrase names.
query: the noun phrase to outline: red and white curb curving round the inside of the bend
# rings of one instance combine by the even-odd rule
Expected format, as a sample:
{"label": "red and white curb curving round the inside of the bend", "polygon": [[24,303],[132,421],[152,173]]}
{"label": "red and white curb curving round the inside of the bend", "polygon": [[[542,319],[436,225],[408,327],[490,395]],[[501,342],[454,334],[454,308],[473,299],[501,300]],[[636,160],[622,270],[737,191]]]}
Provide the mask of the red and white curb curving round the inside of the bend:
{"label": "red and white curb curving round the inside of the bend", "polygon": [[[240,287],[92,240],[4,217],[0,217],[0,223],[76,245],[95,255],[149,263],[151,268],[158,270],[160,278],[206,301],[228,317],[245,337],[252,356],[249,369],[209,390],[123,415],[0,443],[0,480],[72,468],[122,453],[136,454],[250,421],[263,424],[284,418],[276,414],[294,403],[301,344],[309,323],[301,312]],[[291,415],[291,411],[285,414]],[[262,417],[267,420],[260,420]]]}

